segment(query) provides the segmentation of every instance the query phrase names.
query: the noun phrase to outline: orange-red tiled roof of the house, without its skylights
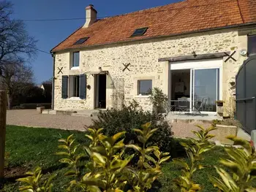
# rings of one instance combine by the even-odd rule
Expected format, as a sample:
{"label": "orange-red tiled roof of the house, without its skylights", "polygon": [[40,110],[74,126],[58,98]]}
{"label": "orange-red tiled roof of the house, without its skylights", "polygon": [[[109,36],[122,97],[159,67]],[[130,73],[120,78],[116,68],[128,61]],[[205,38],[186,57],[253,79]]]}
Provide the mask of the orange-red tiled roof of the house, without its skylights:
{"label": "orange-red tiled roof of the house, without its skylights", "polygon": [[[256,0],[185,0],[97,20],[89,28],[79,28],[52,51],[184,34],[244,23],[256,23]],[[146,34],[130,37],[136,28],[143,27],[148,27]],[[83,37],[90,38],[82,45],[73,45]]]}

